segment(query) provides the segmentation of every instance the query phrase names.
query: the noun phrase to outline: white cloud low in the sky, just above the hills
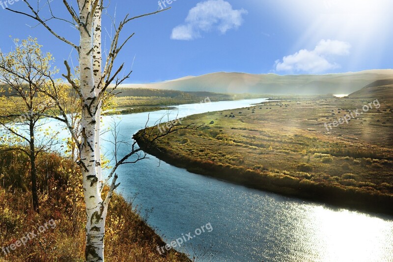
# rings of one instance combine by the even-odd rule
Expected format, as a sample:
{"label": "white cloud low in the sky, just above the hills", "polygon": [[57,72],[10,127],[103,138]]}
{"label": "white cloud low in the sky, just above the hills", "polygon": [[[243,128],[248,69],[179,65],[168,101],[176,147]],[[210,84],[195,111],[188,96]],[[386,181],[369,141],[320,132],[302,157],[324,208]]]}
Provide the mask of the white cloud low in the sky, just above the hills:
{"label": "white cloud low in the sky, just above the hills", "polygon": [[351,45],[338,40],[321,40],[314,50],[302,49],[276,61],[277,71],[320,73],[340,67],[331,62],[334,56],[349,55]]}

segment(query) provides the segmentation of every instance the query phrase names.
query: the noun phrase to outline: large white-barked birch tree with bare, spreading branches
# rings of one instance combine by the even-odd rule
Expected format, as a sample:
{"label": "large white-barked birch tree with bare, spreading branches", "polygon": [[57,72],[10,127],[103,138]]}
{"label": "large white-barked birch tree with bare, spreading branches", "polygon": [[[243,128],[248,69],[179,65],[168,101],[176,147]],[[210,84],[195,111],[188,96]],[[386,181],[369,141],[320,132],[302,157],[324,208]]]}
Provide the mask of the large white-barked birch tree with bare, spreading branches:
{"label": "large white-barked birch tree with bare, spreading branches", "polygon": [[[55,102],[60,113],[59,116],[54,118],[62,121],[67,126],[79,151],[77,163],[83,175],[84,202],[86,206],[85,260],[87,262],[103,262],[105,220],[108,212],[108,205],[114,190],[119,186],[119,183],[117,183],[118,176],[116,170],[121,165],[136,163],[146,158],[146,153],[144,153],[134,141],[134,143],[130,144],[130,151],[128,154],[122,157],[115,156],[113,168],[105,181],[103,180],[100,151],[100,120],[103,101],[107,95],[112,95],[116,87],[129,78],[131,74],[131,72],[126,73],[124,77],[120,78],[118,76],[120,72],[122,72],[124,64],[118,68],[114,68],[114,61],[124,45],[134,36],[134,33],[128,34],[128,36],[124,38],[124,41],[120,41],[120,35],[125,26],[133,20],[157,14],[169,8],[135,17],[127,15],[117,25],[112,22],[114,34],[111,39],[109,50],[105,50],[106,55],[103,56],[101,47],[102,16],[105,8],[103,0],[76,0],[76,4],[74,5],[70,3],[71,1],[62,0],[61,2],[64,5],[64,9],[72,18],[71,21],[56,17],[52,12],[49,1],[45,3],[50,10],[49,18],[44,18],[41,15],[44,6],[42,6],[42,4],[40,5],[39,0],[34,5],[32,5],[29,0],[23,0],[23,2],[28,7],[29,12],[7,9],[14,13],[28,16],[38,22],[59,41],[70,45],[78,53],[79,83],[76,83],[75,79],[73,79],[71,67],[67,61],[64,61],[66,73],[63,74],[63,77],[75,90],[80,99],[80,135],[75,131],[75,127],[70,122],[61,105],[61,101],[58,99],[55,81],[50,85],[51,88],[42,91]],[[79,43],[75,44],[71,42],[52,29],[49,25],[52,20],[60,20],[75,26],[79,32]],[[173,126],[173,128],[168,130],[165,134],[159,132],[155,133],[153,141],[179,129],[195,128],[197,127],[193,124],[185,126],[179,125],[177,127]],[[151,133],[151,135],[153,135],[153,133]],[[115,141],[114,143],[117,145],[118,142]],[[131,157],[132,160],[130,160]],[[105,184],[108,184],[109,191],[103,196],[102,192]]]}

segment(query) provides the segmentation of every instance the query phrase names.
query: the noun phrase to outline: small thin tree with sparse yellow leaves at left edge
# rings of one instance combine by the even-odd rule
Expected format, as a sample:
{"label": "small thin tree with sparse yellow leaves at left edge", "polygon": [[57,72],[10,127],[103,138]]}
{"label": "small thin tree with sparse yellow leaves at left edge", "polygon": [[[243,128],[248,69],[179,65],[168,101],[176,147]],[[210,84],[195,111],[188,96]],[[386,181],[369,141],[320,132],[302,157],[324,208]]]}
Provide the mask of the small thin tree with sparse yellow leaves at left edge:
{"label": "small thin tree with sparse yellow leaves at left edge", "polygon": [[19,150],[28,156],[32,204],[39,212],[36,158],[51,150],[57,135],[44,128],[44,115],[54,106],[39,89],[56,68],[51,68],[52,55],[43,53],[36,39],[15,39],[14,44],[14,51],[0,52],[0,151]]}

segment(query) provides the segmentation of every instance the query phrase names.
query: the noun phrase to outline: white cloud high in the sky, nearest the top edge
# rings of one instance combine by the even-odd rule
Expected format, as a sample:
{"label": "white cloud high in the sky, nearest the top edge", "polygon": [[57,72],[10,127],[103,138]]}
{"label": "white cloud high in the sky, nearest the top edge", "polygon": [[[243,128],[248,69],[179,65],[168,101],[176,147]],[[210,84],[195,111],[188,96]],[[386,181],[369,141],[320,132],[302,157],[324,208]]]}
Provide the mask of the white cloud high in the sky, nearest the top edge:
{"label": "white cloud high in the sky, nearest the top edge", "polygon": [[199,2],[188,12],[185,24],[172,29],[171,39],[193,40],[201,37],[201,32],[218,30],[225,34],[229,29],[239,28],[243,23],[244,9],[234,10],[224,0]]}

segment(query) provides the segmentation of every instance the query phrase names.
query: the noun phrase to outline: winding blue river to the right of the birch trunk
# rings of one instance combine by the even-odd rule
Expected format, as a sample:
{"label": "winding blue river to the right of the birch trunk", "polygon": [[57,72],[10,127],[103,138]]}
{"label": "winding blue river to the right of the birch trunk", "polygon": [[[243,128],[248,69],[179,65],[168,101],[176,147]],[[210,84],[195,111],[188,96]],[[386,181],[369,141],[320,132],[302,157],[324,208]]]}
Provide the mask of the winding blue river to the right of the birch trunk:
{"label": "winding blue river to the right of the birch trunk", "polygon": [[[115,118],[120,120],[120,134],[130,140],[144,127],[148,116],[149,125],[153,125],[163,116],[167,119],[168,114],[170,120],[176,115],[236,109],[261,101],[266,100],[181,105],[169,112]],[[106,116],[104,123],[110,118]],[[112,150],[108,143],[103,146]],[[126,152],[124,146],[119,154]],[[182,238],[184,243],[176,249],[198,261],[393,262],[391,216],[249,189],[191,174],[154,156],[122,166],[117,174],[119,191],[133,199],[142,215],[148,214],[148,223],[167,243]],[[197,230],[202,226],[210,229],[206,226],[209,223],[210,232]]]}

